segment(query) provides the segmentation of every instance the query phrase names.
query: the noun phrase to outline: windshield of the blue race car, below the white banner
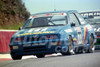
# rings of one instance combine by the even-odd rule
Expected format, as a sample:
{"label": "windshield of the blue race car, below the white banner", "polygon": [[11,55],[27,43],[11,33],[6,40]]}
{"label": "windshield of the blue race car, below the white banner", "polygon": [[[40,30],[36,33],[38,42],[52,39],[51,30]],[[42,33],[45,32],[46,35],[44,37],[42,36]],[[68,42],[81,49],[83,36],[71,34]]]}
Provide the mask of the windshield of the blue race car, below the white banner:
{"label": "windshield of the blue race car, below the white banner", "polygon": [[31,18],[25,22],[23,28],[61,26],[61,25],[66,25],[65,15],[53,15],[53,16]]}

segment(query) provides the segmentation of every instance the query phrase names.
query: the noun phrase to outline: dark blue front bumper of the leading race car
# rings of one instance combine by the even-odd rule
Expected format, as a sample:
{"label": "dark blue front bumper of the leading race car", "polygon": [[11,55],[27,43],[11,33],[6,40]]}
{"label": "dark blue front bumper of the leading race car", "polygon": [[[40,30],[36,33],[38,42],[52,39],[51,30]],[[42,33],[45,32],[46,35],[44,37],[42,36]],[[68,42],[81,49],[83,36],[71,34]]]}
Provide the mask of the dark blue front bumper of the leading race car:
{"label": "dark blue front bumper of the leading race car", "polygon": [[[10,45],[14,46],[14,45]],[[61,50],[67,50],[67,44],[64,41],[60,45],[34,45],[24,46],[17,45],[18,49],[10,49],[11,55],[37,55],[37,54],[52,54],[61,52]]]}

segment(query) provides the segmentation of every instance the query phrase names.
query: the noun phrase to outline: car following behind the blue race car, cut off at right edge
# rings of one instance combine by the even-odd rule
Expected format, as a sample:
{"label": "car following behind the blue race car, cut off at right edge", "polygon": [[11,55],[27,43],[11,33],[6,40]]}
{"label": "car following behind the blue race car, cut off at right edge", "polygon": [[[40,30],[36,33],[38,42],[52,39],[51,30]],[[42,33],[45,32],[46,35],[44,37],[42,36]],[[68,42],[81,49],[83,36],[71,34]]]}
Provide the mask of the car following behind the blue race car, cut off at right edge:
{"label": "car following behind the blue race car, cut off at right edge", "polygon": [[95,34],[97,35],[97,41],[95,45],[100,44],[100,16],[84,16],[84,19],[89,23],[95,31]]}

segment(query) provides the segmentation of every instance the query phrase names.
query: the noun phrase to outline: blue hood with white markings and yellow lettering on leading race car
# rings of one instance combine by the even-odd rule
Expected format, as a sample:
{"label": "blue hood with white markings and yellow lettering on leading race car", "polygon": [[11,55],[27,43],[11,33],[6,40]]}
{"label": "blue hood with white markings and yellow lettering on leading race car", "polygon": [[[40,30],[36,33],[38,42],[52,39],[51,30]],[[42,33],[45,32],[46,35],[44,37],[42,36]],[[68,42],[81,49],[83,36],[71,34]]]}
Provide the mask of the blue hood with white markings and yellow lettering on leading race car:
{"label": "blue hood with white markings and yellow lettering on leading race car", "polygon": [[49,34],[49,33],[59,33],[61,30],[66,29],[67,26],[53,26],[53,27],[40,27],[40,28],[30,28],[22,29],[16,32],[13,36],[23,36],[23,35],[33,35],[33,34]]}

